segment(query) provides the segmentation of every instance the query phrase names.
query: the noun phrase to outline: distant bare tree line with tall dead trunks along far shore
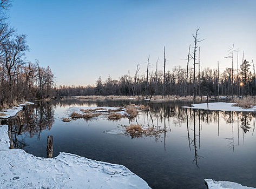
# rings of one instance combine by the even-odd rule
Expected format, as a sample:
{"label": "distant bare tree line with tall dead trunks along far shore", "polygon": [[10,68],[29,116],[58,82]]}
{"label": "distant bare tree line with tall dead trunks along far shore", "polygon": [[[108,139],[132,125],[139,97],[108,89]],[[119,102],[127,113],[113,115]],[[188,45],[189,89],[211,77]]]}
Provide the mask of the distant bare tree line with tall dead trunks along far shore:
{"label": "distant bare tree line with tall dead trunks along far shore", "polygon": [[[103,81],[101,77],[96,80],[96,85],[88,86],[65,86],[56,88],[56,96],[87,96],[87,95],[119,95],[119,96],[244,96],[256,95],[256,78],[253,60],[251,63],[244,59],[239,62],[239,50],[234,50],[234,44],[228,49],[232,68],[226,68],[223,72],[218,69],[204,68],[200,66],[200,46],[204,40],[199,39],[199,28],[193,34],[194,44],[191,52],[189,45],[187,55],[187,66],[174,66],[172,70],[166,71],[166,51],[163,48],[163,70],[157,70],[159,60],[156,61],[156,69],[150,70],[152,63],[147,58],[146,73],[139,75],[140,64],[136,66],[136,72],[130,76],[121,76],[118,80],[110,76]],[[237,54],[235,54],[237,53]],[[235,57],[237,55],[237,57]],[[235,60],[237,58],[237,60]],[[193,60],[193,61],[191,61]],[[237,69],[234,68],[235,61]],[[192,62],[192,68],[189,65]],[[198,66],[198,69],[196,67]]]}

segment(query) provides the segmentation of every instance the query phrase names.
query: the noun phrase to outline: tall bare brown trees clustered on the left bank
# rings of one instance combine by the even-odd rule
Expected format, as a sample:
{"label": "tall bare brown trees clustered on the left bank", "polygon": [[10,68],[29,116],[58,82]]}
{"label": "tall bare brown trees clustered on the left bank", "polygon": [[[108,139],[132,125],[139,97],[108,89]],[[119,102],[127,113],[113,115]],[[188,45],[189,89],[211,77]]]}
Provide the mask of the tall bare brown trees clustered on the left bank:
{"label": "tall bare brown trees clustered on the left bank", "polygon": [[23,99],[54,96],[54,75],[49,66],[25,58],[29,51],[26,35],[19,35],[8,23],[9,0],[0,0],[0,107],[15,105]]}

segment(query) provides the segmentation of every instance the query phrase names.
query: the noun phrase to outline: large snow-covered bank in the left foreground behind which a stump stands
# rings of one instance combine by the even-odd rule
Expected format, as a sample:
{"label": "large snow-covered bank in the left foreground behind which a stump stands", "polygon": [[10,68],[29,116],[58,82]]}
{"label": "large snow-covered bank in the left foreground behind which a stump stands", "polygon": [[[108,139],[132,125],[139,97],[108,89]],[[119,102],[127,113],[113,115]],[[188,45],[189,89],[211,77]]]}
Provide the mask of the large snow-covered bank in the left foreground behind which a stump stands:
{"label": "large snow-covered bank in the left foreground behind which a stump stands", "polygon": [[38,158],[9,149],[8,126],[0,126],[1,188],[150,188],[123,165],[60,153]]}

